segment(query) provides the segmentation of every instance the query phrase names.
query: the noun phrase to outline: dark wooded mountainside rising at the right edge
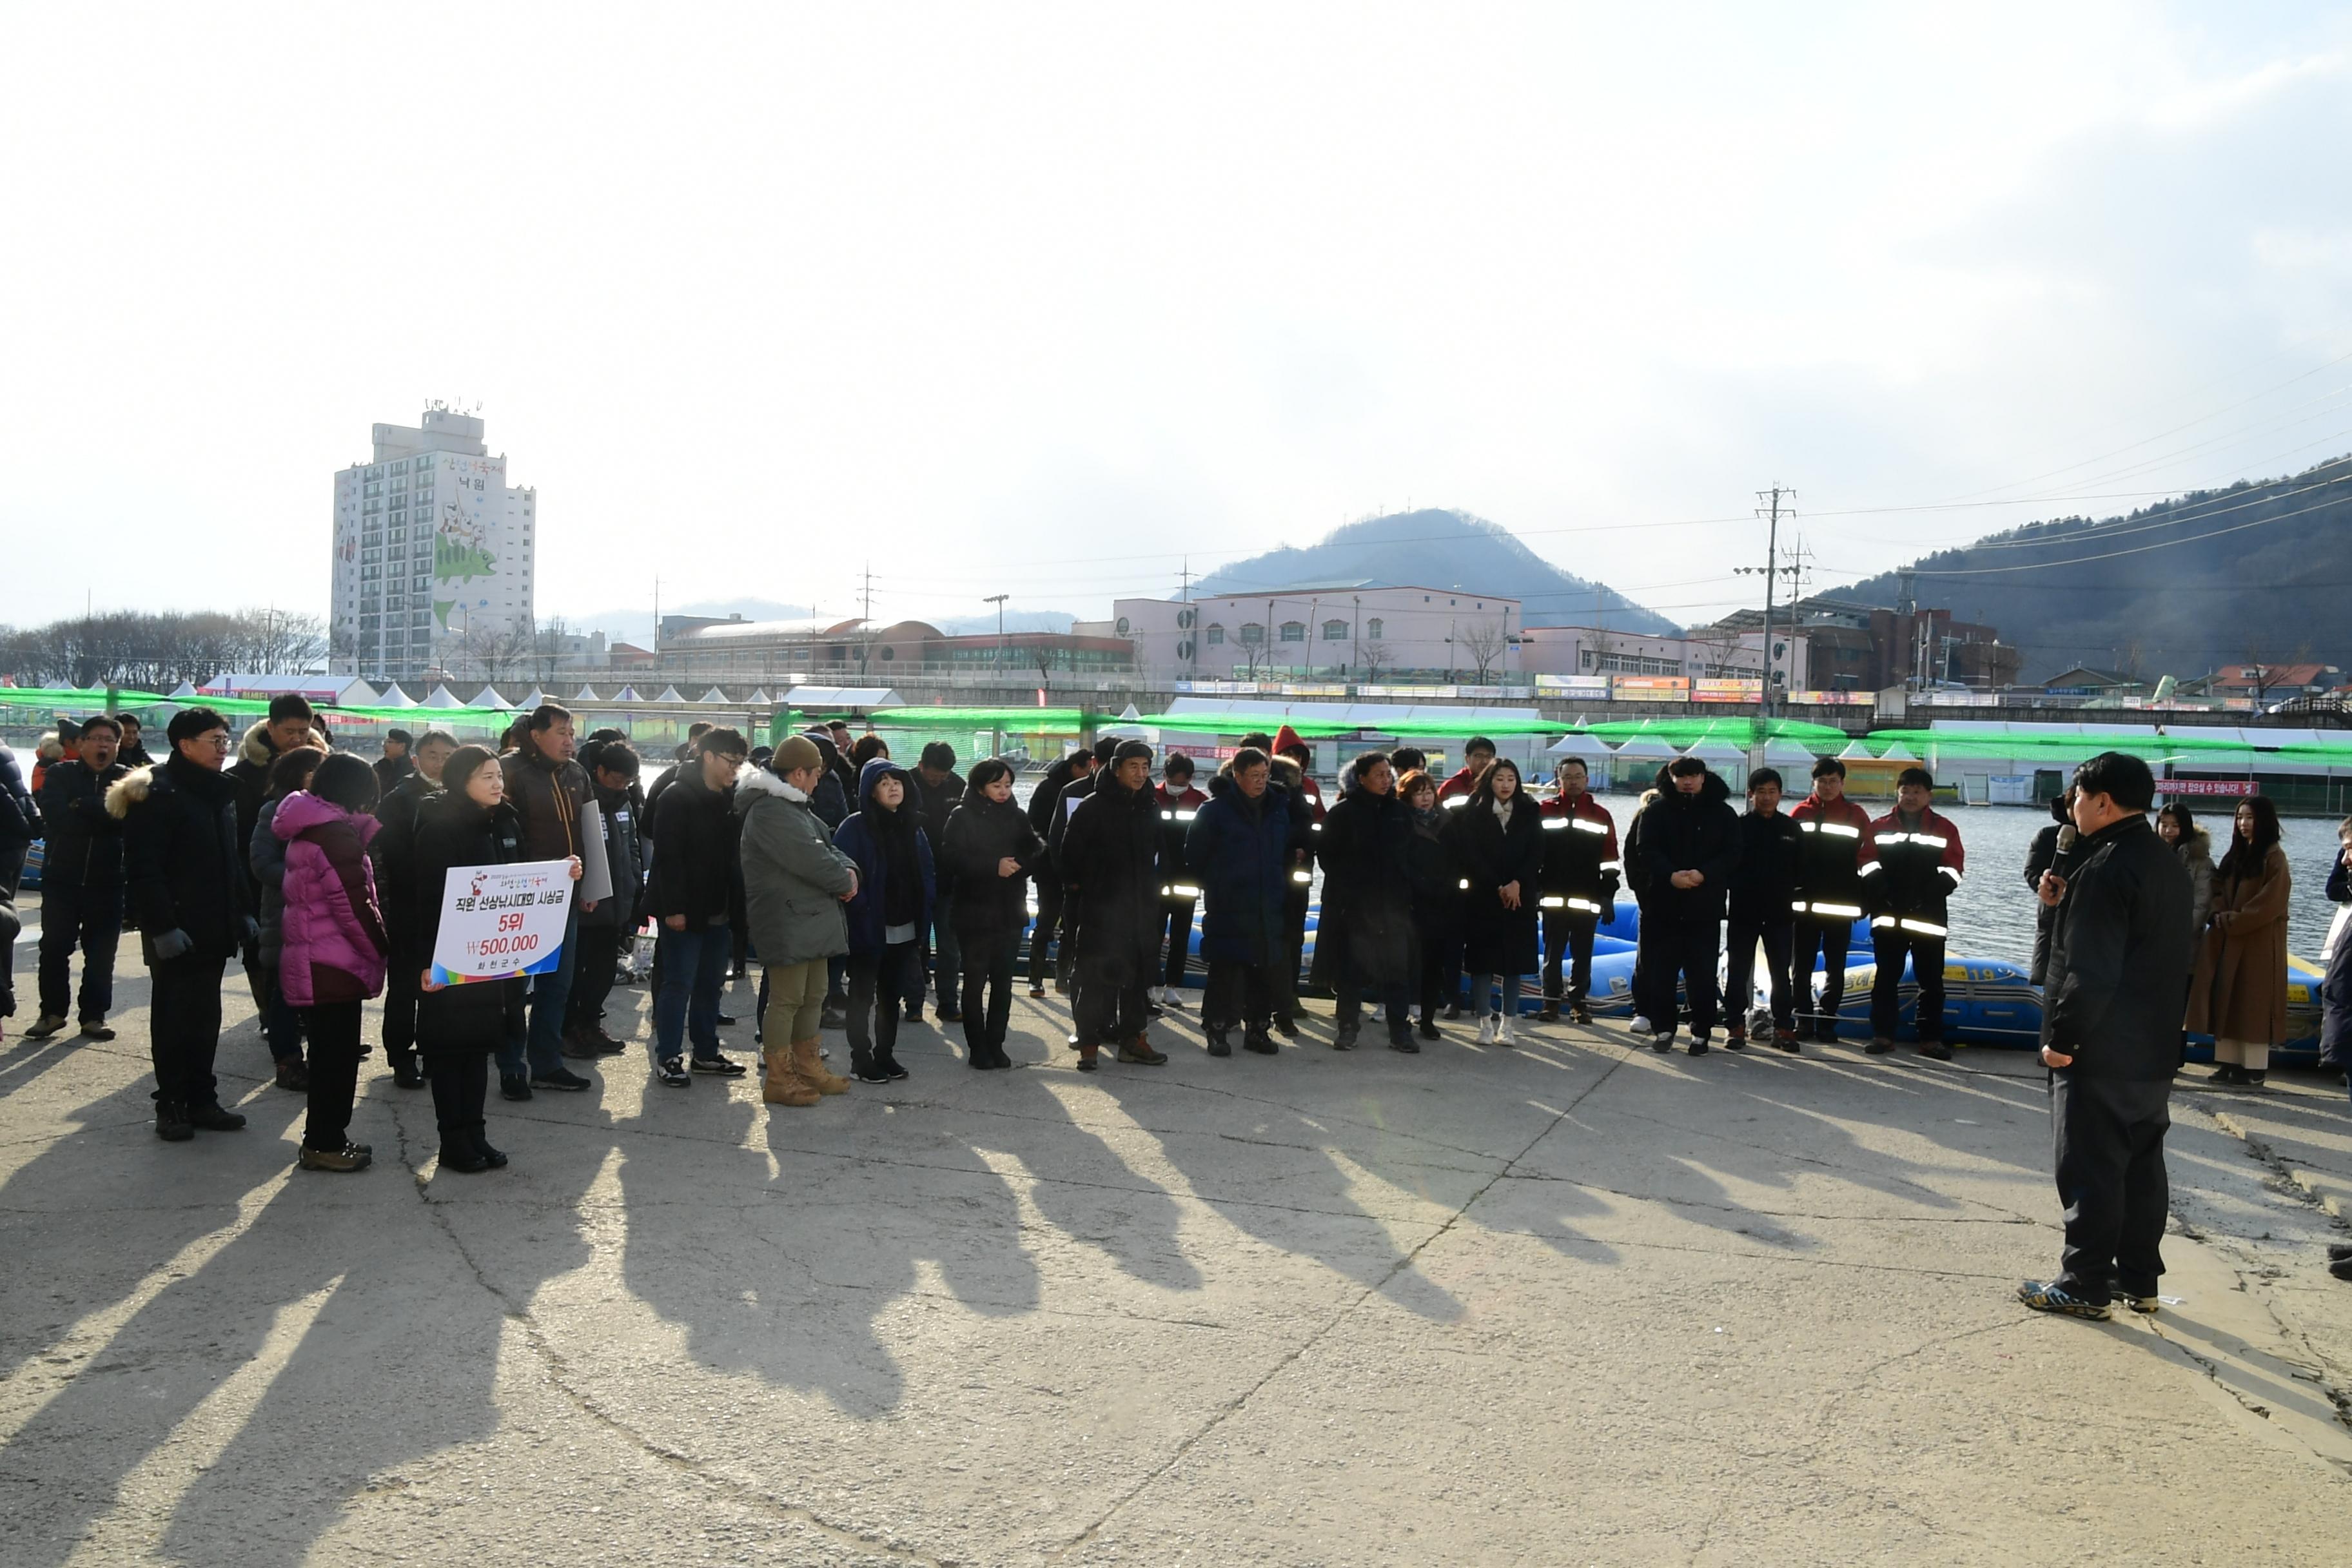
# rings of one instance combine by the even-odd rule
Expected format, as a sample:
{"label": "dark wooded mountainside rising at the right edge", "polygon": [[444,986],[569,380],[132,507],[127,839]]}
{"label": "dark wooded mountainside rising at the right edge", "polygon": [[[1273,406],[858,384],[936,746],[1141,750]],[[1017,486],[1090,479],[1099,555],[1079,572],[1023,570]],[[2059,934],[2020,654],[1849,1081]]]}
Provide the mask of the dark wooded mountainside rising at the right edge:
{"label": "dark wooded mountainside rising at the right edge", "polygon": [[[1999,630],[2037,682],[2072,665],[2154,679],[2230,663],[2352,668],[2352,456],[2119,517],[2058,517],[1910,567],[1922,607]],[[1823,597],[1893,604],[1884,571]]]}

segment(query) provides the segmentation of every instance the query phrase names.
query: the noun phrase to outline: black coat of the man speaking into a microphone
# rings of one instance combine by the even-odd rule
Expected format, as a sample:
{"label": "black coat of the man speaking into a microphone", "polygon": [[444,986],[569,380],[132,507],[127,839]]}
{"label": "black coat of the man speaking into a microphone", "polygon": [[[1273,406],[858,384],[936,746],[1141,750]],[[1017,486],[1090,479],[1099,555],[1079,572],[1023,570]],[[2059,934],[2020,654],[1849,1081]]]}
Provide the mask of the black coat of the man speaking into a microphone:
{"label": "black coat of the man speaking into a microphone", "polygon": [[2086,1079],[2169,1079],[2180,1070],[2180,976],[2194,961],[2194,891],[2145,816],[2074,844],[2044,985],[2042,1044]]}

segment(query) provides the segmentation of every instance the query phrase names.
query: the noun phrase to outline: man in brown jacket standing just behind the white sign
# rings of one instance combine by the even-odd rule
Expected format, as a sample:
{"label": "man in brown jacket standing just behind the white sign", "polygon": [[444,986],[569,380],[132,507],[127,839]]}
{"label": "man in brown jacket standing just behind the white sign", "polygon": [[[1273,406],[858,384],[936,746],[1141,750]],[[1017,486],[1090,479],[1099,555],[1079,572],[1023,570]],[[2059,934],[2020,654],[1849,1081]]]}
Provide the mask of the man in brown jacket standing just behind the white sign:
{"label": "man in brown jacket standing just behind the white sign", "polygon": [[[604,858],[602,830],[586,823],[595,816],[588,769],[574,762],[579,738],[572,712],[541,703],[524,722],[515,750],[499,757],[506,773],[506,802],[522,818],[524,860],[567,860],[579,856],[590,870]],[[602,882],[588,877],[586,882]],[[581,940],[581,912],[595,900],[581,900],[572,884],[572,912],[564,919],[564,945],[557,966],[532,976],[532,1025],[527,1039],[499,1046],[499,1093],[529,1100],[534,1088],[581,1091],[595,1079],[564,1067],[564,1004],[572,999],[574,952]]]}

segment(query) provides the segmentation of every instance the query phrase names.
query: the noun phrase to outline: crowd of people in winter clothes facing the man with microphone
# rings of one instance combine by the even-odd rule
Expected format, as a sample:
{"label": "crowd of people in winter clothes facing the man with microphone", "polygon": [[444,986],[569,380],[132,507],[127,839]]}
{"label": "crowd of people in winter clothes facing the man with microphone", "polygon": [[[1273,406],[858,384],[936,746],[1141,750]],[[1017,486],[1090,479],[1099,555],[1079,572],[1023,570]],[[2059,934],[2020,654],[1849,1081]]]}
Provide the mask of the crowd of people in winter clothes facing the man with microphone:
{"label": "crowd of people in winter clothes facing the man with microphone", "polygon": [[[115,943],[132,926],[155,987],[158,1135],[235,1128],[214,1051],[226,966],[242,959],[275,1081],[310,1100],[303,1168],[369,1161],[348,1124],[367,1051],[360,1004],[379,994],[376,1044],[400,1088],[430,1088],[442,1164],[501,1166],[485,1135],[492,1063],[508,1100],[590,1088],[588,1065],[630,1048],[607,1030],[607,1001],[647,926],[654,1079],[684,1088],[748,1072],[722,1048],[736,1023],[722,1006],[727,980],[757,957],[760,1091],[779,1107],[906,1079],[901,1027],[922,1020],[929,994],[938,1023],[962,1027],[969,1067],[1009,1067],[1023,938],[1030,997],[1049,985],[1068,997],[1080,1072],[1105,1053],[1157,1067],[1169,1058],[1155,1020],[1176,1020],[1192,997],[1195,914],[1207,1056],[1298,1039],[1303,971],[1308,990],[1336,997],[1338,1051],[1362,1041],[1367,1006],[1399,1053],[1465,1016],[1477,1044],[1508,1048],[1531,983],[1538,1023],[1592,1020],[1595,933],[1623,893],[1642,914],[1632,1027],[1651,1048],[1682,1041],[1705,1056],[1717,1030],[1729,1048],[1837,1039],[1849,938],[1867,919],[1865,1051],[1893,1048],[1910,971],[1917,1048],[1950,1056],[1943,945],[1966,858],[1919,766],[1872,818],[1846,799],[1835,757],[1813,764],[1792,811],[1773,769],[1748,776],[1736,811],[1729,785],[1682,757],[1658,771],[1621,846],[1583,759],[1562,757],[1538,799],[1484,738],[1444,778],[1414,748],[1367,750],[1327,804],[1310,748],[1287,726],[1242,736],[1207,780],[1185,752],[1105,736],[1049,766],[1021,804],[1002,759],[960,776],[934,743],[906,769],[882,736],[847,724],[776,748],[699,724],[652,783],[626,733],[581,741],[560,705],[517,719],[499,748],[395,729],[374,764],[334,752],[299,696],[242,733],[209,708],[179,710],[160,764],[125,719],[68,733],[71,755],[42,748],[33,785],[12,759],[0,766],[0,856],[16,844],[21,860],[24,839],[47,839],[40,1006],[26,1034],[78,1020],[111,1039]],[[2070,790],[2027,863],[2046,905],[2037,983],[2058,917],[2046,889],[2063,889],[2084,853],[2072,809]],[[2260,1086],[2284,1034],[2291,884],[2277,816],[2244,802],[2218,867],[2183,806],[2157,813],[2157,835],[2192,889],[2183,1023],[2218,1037],[2216,1081]],[[2352,825],[2345,844],[2328,893],[2352,903]],[[557,964],[527,980],[435,980],[449,870],[520,860],[567,863],[574,877]],[[2328,1004],[2336,1048],[2352,1034],[2352,943],[2333,938]],[[826,1065],[828,1027],[847,1034],[847,1074]]]}

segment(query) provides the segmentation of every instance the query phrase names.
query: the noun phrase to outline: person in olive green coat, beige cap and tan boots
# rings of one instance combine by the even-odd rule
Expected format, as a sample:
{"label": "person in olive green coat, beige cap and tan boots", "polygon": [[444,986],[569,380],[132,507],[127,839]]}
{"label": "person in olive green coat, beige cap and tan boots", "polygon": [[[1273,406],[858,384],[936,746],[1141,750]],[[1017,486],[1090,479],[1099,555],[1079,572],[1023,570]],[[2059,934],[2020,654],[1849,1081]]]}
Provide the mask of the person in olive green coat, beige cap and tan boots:
{"label": "person in olive green coat, beige cap and tan boots", "polygon": [[746,766],[736,776],[743,907],[750,945],[767,971],[760,1098],[769,1105],[816,1105],[818,1095],[849,1088],[849,1079],[826,1072],[816,1053],[826,959],[849,952],[842,905],[858,891],[856,863],[833,846],[826,823],[809,809],[823,771],[816,745],[793,736],[764,769]]}

